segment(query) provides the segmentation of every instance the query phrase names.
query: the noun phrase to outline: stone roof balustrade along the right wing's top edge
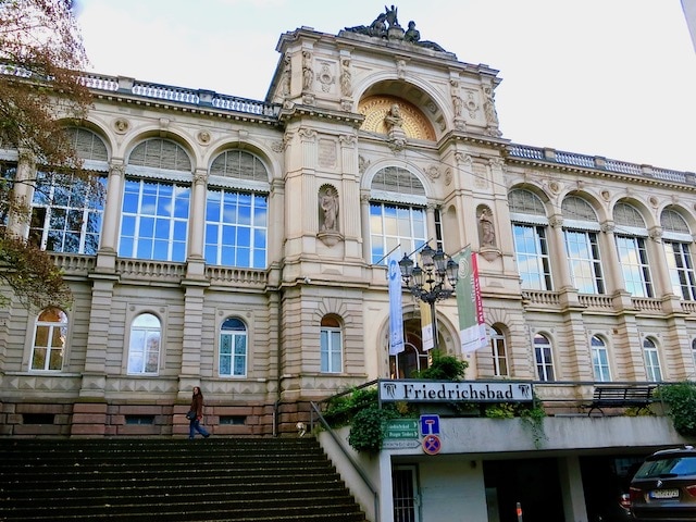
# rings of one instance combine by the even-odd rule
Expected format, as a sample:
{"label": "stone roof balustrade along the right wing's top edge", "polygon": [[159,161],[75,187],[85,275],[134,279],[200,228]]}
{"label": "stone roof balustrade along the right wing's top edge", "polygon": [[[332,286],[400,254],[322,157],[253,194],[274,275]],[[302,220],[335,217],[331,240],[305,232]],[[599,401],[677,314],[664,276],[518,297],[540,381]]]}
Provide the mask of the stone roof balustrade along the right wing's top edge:
{"label": "stone roof balustrade along the right wing's top edge", "polygon": [[666,182],[683,183],[696,185],[696,174],[693,172],[671,171],[650,165],[639,165],[625,161],[611,160],[598,156],[576,154],[562,150],[530,147],[526,145],[512,144],[508,147],[508,157],[522,158],[525,160],[538,160],[561,165],[574,165],[586,169],[595,169],[618,174],[630,174],[632,176],[651,177]]}

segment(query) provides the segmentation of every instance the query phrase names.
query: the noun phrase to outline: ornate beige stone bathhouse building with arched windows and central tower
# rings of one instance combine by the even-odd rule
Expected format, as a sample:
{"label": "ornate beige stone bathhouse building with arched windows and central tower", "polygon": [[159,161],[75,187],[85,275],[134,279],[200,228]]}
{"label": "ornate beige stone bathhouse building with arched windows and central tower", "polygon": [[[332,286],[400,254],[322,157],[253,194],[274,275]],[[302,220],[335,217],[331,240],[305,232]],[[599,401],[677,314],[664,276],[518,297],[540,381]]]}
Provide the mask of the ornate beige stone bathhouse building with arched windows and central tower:
{"label": "ornate beige stone bathhouse building with arched windows and central tower", "polygon": [[[74,303],[0,311],[3,435],[184,435],[192,386],[214,436],[293,432],[309,401],[427,364],[406,291],[389,356],[385,270],[423,244],[477,254],[489,346],[462,355],[456,300],[437,304],[468,380],[533,382],[552,406],[694,376],[694,174],[511,141],[498,71],[395,14],[282,35],[264,101],[86,76],[94,109],[70,132],[107,197],[29,192],[30,222],[9,225],[53,252]],[[5,175],[42,169],[0,158]],[[587,470],[683,442],[659,418],[559,414],[544,453],[486,421],[504,422],[443,425],[447,463],[382,451],[381,520],[510,520],[515,495],[542,501],[538,470],[552,520],[587,520],[602,476]],[[394,514],[391,476],[417,518]]]}

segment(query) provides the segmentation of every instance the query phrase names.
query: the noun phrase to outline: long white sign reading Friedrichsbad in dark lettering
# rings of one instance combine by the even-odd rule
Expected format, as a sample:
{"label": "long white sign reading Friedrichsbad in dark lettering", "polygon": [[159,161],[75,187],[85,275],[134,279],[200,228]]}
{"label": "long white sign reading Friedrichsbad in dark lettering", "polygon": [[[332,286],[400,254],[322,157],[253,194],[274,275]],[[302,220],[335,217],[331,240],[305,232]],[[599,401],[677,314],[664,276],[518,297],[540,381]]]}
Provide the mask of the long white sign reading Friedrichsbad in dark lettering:
{"label": "long white sign reading Friedrichsbad in dark lettering", "polygon": [[529,402],[532,383],[380,380],[380,400],[408,402]]}

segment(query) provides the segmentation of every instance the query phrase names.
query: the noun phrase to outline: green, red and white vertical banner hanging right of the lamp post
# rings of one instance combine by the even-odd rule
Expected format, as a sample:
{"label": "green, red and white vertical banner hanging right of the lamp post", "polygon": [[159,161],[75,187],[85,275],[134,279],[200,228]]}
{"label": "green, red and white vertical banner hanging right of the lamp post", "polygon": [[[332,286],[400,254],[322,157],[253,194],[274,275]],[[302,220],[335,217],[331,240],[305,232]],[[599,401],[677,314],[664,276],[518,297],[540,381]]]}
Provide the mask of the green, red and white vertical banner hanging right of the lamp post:
{"label": "green, red and white vertical banner hanging right of the lamp post", "polygon": [[455,261],[459,263],[457,279],[457,309],[459,311],[459,337],[461,350],[467,353],[488,345],[483,301],[478,283],[476,254],[467,247]]}

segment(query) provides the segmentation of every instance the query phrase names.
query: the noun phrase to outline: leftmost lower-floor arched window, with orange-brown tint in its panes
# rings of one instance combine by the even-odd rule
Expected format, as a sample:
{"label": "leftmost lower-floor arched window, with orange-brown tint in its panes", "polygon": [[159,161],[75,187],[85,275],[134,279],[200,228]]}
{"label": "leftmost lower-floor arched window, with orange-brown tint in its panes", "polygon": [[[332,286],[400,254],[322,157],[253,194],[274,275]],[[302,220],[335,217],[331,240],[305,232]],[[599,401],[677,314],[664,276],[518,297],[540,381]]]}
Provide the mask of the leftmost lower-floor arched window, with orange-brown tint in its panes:
{"label": "leftmost lower-floor arched window, with orange-brown tint in its panes", "polygon": [[36,321],[32,370],[62,370],[66,343],[67,315],[58,308],[47,308]]}

